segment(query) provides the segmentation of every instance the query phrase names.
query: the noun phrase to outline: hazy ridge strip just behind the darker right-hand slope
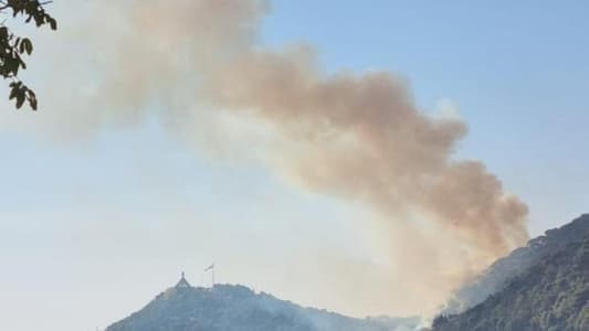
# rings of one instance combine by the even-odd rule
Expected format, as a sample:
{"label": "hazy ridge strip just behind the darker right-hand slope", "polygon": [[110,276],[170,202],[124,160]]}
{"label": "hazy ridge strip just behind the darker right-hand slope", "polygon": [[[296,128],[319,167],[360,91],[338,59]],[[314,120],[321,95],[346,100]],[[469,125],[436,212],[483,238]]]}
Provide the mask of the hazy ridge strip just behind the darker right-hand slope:
{"label": "hazy ridge strip just behind the darker right-hand slope", "polygon": [[442,310],[442,314],[465,311],[502,290],[511,279],[526,271],[530,266],[570,243],[579,242],[589,234],[589,214],[549,229],[545,235],[528,242],[525,247],[515,249],[508,256],[495,261],[487,270],[460,288]]}

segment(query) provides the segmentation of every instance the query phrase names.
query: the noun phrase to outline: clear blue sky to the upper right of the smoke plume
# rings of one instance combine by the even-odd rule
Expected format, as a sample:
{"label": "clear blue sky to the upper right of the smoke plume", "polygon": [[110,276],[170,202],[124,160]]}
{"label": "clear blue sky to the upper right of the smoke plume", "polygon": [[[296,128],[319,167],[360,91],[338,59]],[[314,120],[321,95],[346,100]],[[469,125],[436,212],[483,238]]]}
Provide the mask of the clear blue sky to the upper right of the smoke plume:
{"label": "clear blue sky to the upper right of the smoke plume", "polygon": [[265,41],[318,45],[329,70],[406,76],[424,111],[451,99],[484,160],[530,206],[530,231],[585,212],[589,32],[585,1],[274,1]]}

